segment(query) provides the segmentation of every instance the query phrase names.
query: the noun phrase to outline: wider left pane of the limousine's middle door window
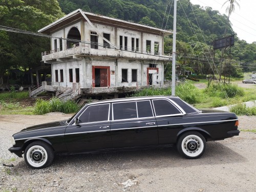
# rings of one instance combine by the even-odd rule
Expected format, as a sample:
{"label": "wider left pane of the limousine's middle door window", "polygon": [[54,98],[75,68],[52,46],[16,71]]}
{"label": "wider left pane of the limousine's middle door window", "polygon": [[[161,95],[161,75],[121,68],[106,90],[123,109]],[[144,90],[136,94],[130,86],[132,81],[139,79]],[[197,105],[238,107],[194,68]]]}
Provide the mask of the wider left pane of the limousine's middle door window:
{"label": "wider left pane of the limousine's middle door window", "polygon": [[113,119],[137,118],[136,102],[113,103]]}

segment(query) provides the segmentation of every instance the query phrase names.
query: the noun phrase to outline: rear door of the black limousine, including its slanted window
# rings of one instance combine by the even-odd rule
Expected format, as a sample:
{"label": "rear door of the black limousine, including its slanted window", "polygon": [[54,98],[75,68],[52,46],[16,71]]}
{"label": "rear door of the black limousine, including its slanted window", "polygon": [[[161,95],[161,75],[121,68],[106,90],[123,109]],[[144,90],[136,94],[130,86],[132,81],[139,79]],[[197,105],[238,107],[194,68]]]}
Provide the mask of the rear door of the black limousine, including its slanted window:
{"label": "rear door of the black limousine, including its slanted window", "polygon": [[153,99],[154,113],[158,125],[159,144],[174,143],[183,128],[185,112],[168,99]]}

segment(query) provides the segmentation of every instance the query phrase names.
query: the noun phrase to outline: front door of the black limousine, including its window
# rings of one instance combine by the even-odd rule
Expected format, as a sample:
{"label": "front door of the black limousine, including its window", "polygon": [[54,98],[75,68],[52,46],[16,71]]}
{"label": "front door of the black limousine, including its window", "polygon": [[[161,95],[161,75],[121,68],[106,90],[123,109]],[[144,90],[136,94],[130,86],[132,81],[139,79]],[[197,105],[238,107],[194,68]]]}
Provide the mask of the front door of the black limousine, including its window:
{"label": "front door of the black limousine, including its window", "polygon": [[110,103],[89,105],[77,118],[79,123],[68,125],[65,133],[69,152],[112,148]]}

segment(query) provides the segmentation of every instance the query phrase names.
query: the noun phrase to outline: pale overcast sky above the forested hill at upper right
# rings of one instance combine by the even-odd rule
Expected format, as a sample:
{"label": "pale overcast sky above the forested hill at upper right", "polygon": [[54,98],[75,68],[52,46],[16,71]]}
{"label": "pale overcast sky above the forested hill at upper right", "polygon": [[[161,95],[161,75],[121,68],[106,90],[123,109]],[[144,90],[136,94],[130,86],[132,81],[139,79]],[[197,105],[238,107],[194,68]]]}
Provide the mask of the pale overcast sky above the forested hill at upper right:
{"label": "pale overcast sky above the forested hill at upper right", "polygon": [[[227,0],[190,0],[194,5],[203,7],[211,7],[213,10],[218,10],[221,14],[226,14],[226,7],[229,2],[222,5]],[[234,32],[242,40],[246,40],[249,44],[256,41],[256,0],[237,0],[239,7],[235,4],[235,10],[230,15],[230,22]]]}

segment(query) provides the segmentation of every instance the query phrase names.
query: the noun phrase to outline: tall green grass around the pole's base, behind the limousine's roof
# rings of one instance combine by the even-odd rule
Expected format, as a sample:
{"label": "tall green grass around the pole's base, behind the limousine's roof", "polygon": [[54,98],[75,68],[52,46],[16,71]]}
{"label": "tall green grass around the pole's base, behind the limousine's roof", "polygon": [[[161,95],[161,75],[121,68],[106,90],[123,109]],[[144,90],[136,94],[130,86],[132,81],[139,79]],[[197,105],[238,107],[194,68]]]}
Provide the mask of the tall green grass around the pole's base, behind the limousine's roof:
{"label": "tall green grass around the pole's base, behind the limousine's roof", "polygon": [[[172,95],[172,89],[146,88],[131,95],[131,97],[153,96],[153,95]],[[194,104],[200,101],[201,94],[190,81],[179,83],[176,86],[176,95],[184,101]]]}

